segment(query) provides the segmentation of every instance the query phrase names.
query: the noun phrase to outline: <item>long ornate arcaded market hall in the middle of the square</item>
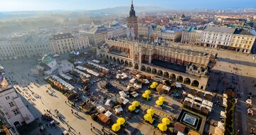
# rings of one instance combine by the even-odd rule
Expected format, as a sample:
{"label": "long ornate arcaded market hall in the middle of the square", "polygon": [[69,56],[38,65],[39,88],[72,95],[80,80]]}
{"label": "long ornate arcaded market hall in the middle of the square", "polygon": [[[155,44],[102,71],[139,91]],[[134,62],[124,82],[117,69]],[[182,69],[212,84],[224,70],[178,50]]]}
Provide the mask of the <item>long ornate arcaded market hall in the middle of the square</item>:
{"label": "long ornate arcaded market hall in the middle of the square", "polygon": [[[134,69],[177,80],[205,89],[208,82],[207,66],[215,55],[180,48],[178,45],[159,45],[149,39],[137,41],[107,40],[97,55]],[[193,64],[193,70],[188,68]]]}

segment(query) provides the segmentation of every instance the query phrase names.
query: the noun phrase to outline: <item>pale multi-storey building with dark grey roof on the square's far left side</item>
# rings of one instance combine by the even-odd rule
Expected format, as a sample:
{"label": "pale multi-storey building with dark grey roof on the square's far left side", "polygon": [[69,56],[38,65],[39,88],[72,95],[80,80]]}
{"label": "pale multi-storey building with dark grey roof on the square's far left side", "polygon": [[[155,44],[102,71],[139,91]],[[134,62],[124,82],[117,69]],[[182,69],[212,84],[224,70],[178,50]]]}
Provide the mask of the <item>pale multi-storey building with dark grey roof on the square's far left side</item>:
{"label": "pale multi-storey building with dark grey roof on the square's far left side", "polygon": [[53,35],[50,47],[54,54],[68,53],[75,50],[75,40],[70,33]]}

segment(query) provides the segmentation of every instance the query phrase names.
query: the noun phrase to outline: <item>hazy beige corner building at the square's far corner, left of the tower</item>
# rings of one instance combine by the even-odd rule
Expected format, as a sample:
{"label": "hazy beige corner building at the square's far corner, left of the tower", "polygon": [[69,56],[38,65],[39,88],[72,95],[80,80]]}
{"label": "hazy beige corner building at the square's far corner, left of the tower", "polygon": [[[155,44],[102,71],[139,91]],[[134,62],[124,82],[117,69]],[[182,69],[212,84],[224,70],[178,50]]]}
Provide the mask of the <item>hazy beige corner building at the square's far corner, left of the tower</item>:
{"label": "hazy beige corner building at the square's far corner, left of the tower", "polygon": [[105,39],[107,39],[107,28],[103,26],[95,27],[85,31],[84,34],[88,36],[90,45],[100,45],[105,43]]}

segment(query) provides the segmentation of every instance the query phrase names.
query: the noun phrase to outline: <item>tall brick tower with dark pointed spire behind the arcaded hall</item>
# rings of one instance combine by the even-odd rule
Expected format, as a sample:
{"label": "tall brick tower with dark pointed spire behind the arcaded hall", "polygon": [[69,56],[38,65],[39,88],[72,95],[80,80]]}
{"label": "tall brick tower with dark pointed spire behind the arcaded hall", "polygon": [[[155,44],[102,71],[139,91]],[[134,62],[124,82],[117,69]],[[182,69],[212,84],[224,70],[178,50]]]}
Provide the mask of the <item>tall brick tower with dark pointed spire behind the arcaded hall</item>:
{"label": "tall brick tower with dark pointed spire behind the arcaded hall", "polygon": [[133,1],[129,16],[127,17],[127,21],[127,38],[134,40],[138,36],[138,17],[134,11]]}

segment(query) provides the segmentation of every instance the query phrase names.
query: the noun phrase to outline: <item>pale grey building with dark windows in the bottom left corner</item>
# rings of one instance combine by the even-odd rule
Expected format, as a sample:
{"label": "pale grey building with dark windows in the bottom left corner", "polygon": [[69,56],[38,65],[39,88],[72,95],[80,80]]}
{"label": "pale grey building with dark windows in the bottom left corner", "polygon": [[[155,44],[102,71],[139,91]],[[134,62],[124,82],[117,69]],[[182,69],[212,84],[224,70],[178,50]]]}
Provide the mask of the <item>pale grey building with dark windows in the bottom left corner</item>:
{"label": "pale grey building with dark windows in the bottom left corner", "polygon": [[[30,124],[35,120],[26,105],[18,97],[14,87],[0,71],[0,110],[12,127],[18,127],[23,124]],[[14,128],[15,129],[15,128]]]}

